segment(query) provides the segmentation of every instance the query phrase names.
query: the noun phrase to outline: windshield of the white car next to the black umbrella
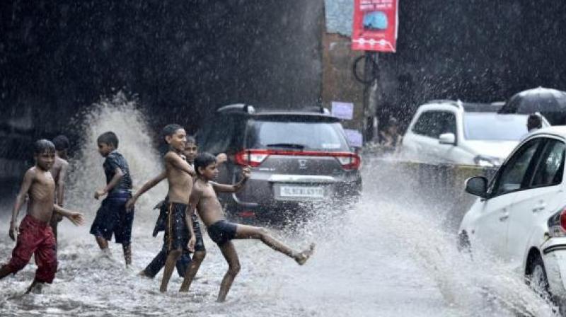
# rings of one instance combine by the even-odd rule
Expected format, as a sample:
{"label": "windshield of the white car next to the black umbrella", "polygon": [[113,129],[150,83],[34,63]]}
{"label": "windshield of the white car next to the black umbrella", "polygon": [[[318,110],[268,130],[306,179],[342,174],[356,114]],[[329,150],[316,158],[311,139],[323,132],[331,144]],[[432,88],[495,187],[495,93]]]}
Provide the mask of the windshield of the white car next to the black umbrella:
{"label": "windshield of the white car next to the black umbrella", "polygon": [[468,140],[519,141],[526,133],[528,115],[465,113],[464,137]]}

